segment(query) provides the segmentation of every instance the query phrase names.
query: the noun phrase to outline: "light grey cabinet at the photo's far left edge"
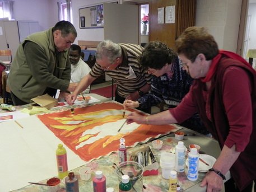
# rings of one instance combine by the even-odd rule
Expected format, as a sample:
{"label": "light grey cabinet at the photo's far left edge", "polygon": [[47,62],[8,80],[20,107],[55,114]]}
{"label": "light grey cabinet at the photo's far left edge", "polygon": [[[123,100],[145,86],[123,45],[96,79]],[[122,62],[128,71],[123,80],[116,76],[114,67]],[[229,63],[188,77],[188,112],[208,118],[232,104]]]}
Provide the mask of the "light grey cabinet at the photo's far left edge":
{"label": "light grey cabinet at the photo's far left edge", "polygon": [[[13,59],[19,44],[17,21],[0,20],[0,49],[10,49]],[[11,60],[11,58],[1,57],[1,60]]]}

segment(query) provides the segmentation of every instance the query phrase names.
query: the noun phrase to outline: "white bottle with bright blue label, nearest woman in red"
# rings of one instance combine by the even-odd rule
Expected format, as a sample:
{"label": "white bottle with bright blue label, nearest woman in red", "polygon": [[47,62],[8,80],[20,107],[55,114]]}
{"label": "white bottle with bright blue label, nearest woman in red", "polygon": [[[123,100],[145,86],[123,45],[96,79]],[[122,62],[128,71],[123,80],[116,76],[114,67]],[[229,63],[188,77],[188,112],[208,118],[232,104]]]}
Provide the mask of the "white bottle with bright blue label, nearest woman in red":
{"label": "white bottle with bright blue label, nearest woman in red", "polygon": [[188,180],[196,181],[198,179],[199,154],[197,148],[192,148],[188,153]]}

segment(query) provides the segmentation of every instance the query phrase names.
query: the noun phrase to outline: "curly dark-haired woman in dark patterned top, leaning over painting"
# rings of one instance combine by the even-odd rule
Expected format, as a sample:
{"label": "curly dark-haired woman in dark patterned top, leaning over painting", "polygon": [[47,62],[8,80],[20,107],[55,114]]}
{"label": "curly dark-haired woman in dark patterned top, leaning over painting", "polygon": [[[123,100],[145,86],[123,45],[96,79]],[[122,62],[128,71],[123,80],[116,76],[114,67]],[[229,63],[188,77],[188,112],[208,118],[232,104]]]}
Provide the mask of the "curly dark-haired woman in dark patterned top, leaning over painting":
{"label": "curly dark-haired woman in dark patterned top, leaning over painting", "polygon": [[[162,101],[169,108],[179,105],[183,97],[188,93],[193,79],[182,70],[178,55],[166,44],[152,41],[146,45],[140,57],[141,64],[148,68],[152,74],[151,91],[141,96],[137,101],[125,100],[125,107],[148,108],[160,104]],[[184,121],[180,125],[196,130],[202,134],[209,132],[204,128],[199,115]]]}

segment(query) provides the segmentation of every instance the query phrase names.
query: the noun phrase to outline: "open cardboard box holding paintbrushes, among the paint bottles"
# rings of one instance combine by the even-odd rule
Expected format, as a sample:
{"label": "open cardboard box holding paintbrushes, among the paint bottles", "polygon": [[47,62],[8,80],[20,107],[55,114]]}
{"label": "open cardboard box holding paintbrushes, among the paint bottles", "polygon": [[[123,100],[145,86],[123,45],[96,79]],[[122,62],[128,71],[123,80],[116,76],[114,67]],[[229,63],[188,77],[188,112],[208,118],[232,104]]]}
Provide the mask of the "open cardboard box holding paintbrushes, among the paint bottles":
{"label": "open cardboard box holding paintbrushes, among the paint bottles", "polygon": [[143,168],[143,176],[158,175],[159,163],[156,161],[150,146],[142,146],[130,151],[131,161],[140,163]]}

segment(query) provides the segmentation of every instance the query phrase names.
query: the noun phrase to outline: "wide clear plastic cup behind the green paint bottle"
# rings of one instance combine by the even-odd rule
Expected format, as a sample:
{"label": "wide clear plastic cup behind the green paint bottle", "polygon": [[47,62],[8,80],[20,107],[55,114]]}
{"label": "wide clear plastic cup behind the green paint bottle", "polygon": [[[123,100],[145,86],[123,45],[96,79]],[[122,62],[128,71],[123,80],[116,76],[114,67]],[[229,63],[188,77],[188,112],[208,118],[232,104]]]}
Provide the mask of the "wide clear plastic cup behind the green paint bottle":
{"label": "wide clear plastic cup behind the green paint bottle", "polygon": [[143,190],[143,171],[144,168],[141,164],[135,161],[126,161],[120,163],[115,169],[115,173],[118,176],[119,183],[122,180],[122,175],[128,175],[132,182],[131,191],[142,191]]}

